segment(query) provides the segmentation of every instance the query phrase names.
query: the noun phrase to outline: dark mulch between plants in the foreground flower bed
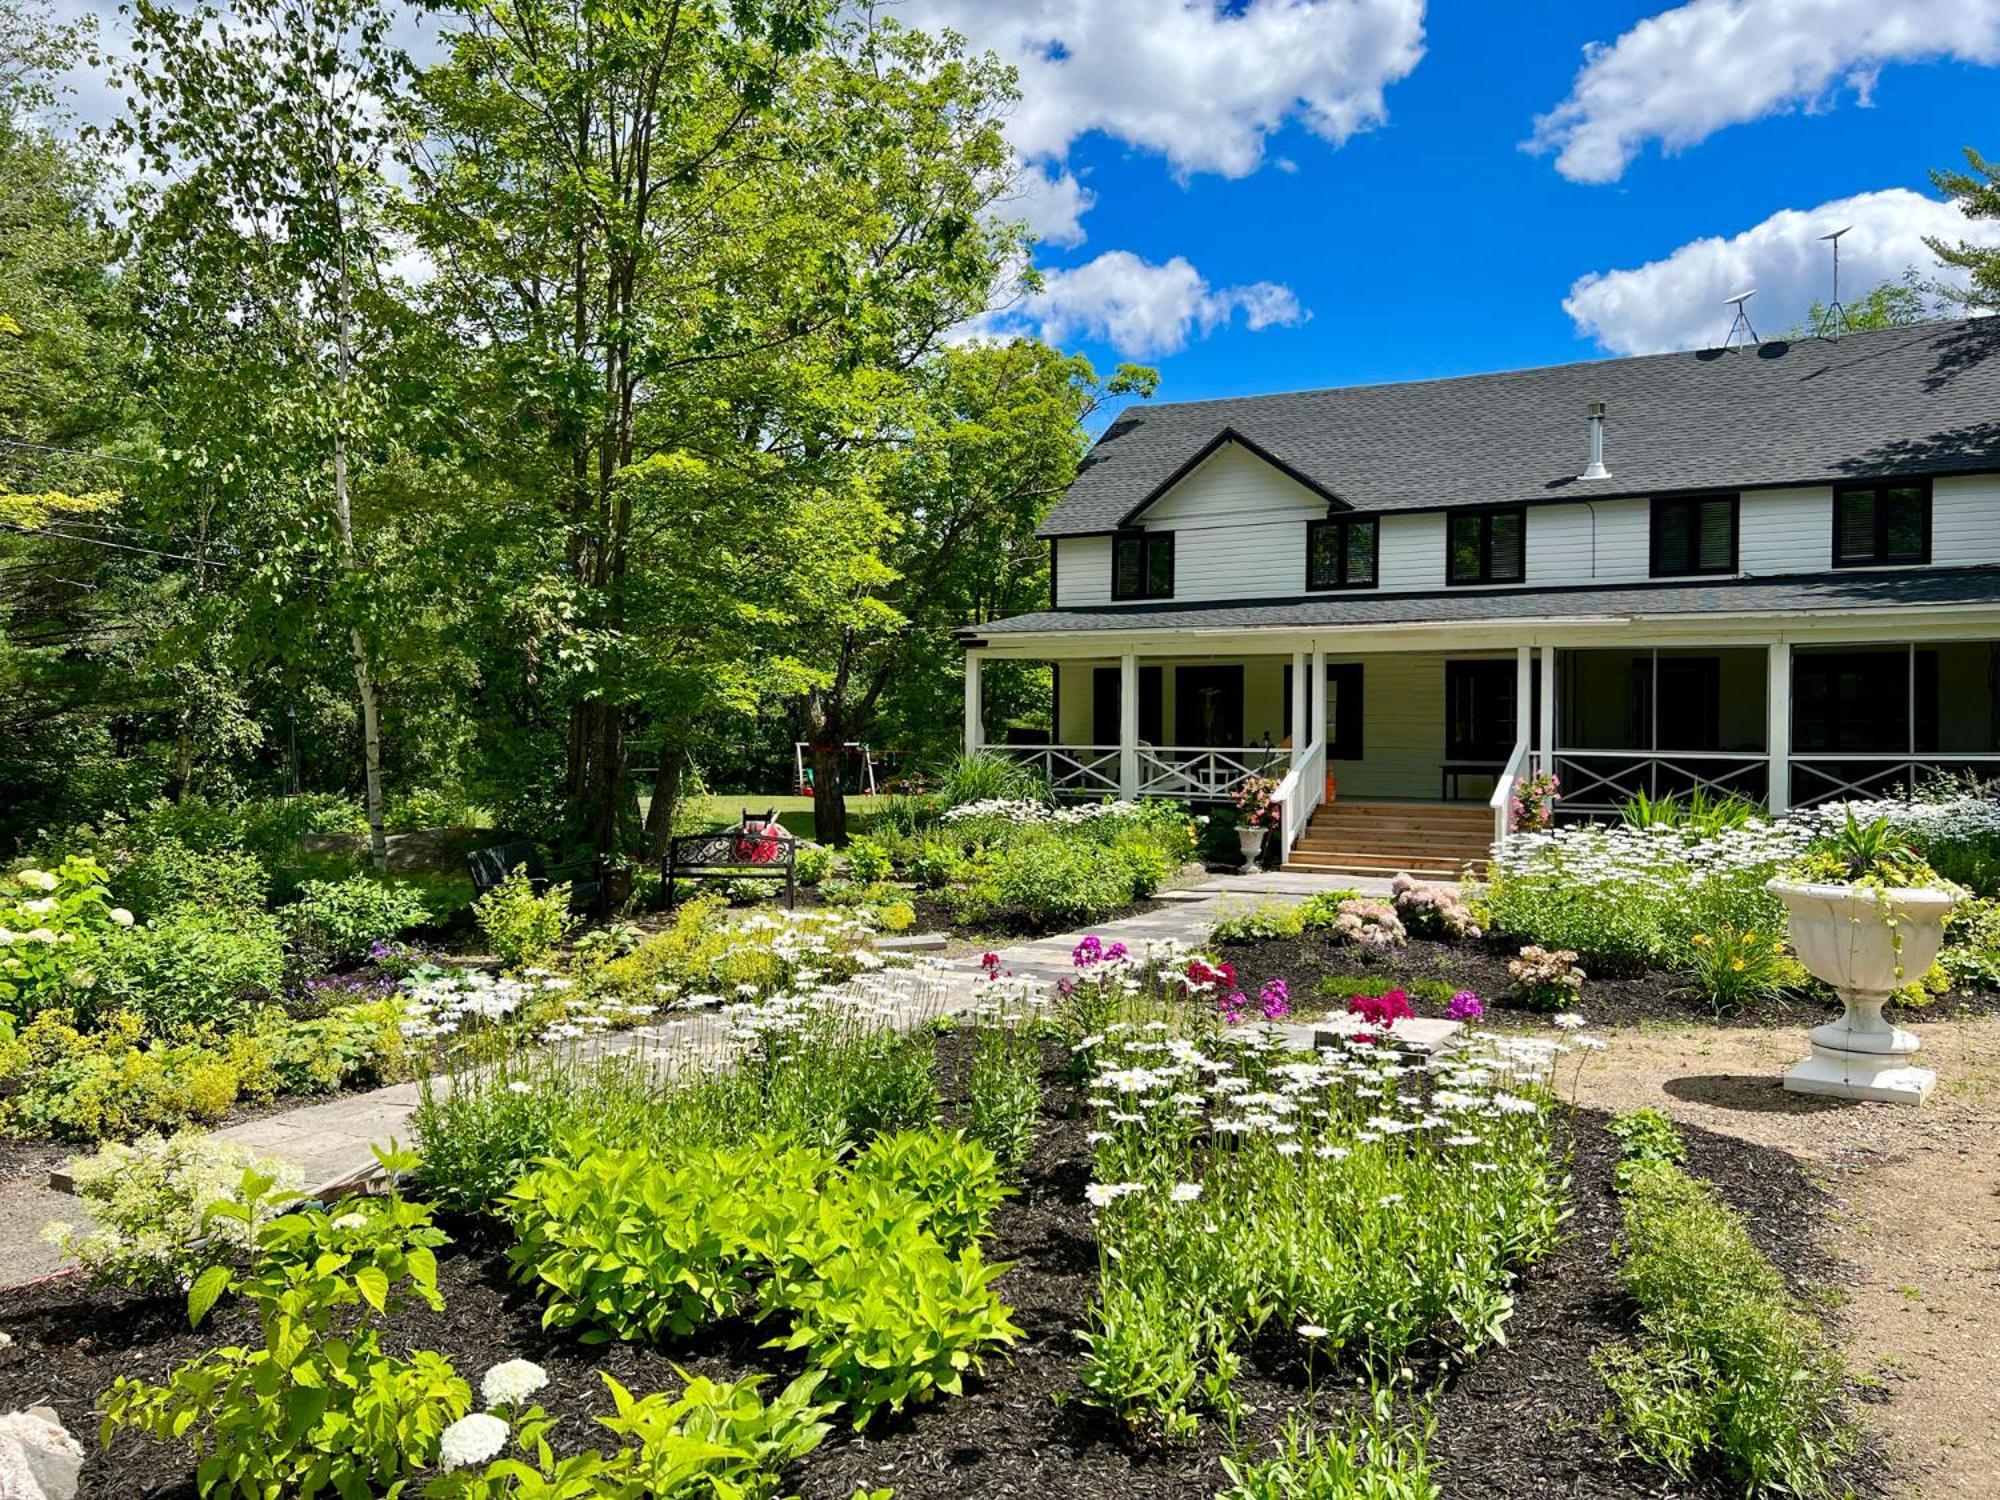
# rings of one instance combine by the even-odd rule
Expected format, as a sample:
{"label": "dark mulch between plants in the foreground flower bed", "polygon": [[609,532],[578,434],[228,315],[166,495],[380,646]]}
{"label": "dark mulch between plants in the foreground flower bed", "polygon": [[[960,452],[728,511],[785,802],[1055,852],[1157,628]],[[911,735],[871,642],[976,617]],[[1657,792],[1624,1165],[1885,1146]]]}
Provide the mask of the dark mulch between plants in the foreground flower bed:
{"label": "dark mulch between plants in the foreground flower bed", "polygon": [[[946,1044],[946,1084],[962,1056]],[[1576,1212],[1566,1240],[1530,1268],[1518,1286],[1510,1342],[1446,1376],[1436,1400],[1432,1456],[1444,1466],[1454,1500],[1528,1500],[1544,1494],[1586,1500],[1720,1500],[1720,1484],[1678,1486],[1656,1470],[1620,1462],[1600,1418],[1604,1390],[1592,1352],[1630,1332],[1630,1308],[1610,1278],[1616,1204],[1610,1194],[1614,1144],[1600,1116],[1578,1116],[1568,1144]],[[1824,1276],[1816,1248],[1822,1194],[1790,1156],[1698,1130],[1688,1132],[1690,1168],[1712,1178],[1750,1222],[1752,1238],[1798,1284]],[[956,1400],[884,1420],[866,1436],[836,1432],[790,1478],[804,1500],[848,1500],[856,1488],[894,1486],[898,1500],[1210,1500],[1224,1482],[1230,1452],[1218,1420],[1196,1442],[1162,1446],[1124,1432],[1076,1404],[1074,1330],[1096,1284],[1098,1258],[1082,1206],[1090,1152],[1082,1124],[1048,1122],[1024,1190],[996,1220],[992,1254],[1012,1260],[1000,1282],[1026,1340],[994,1360],[988,1376]],[[798,1368],[792,1356],[760,1348],[746,1324],[714,1328],[668,1350],[610,1346],[586,1350],[544,1334],[536,1308],[506,1280],[504,1246],[478,1226],[454,1226],[458,1244],[442,1262],[446,1310],[404,1314],[400,1346],[448,1354],[478,1382],[504,1358],[532,1358],[550,1374],[544,1400],[566,1420],[558,1436],[586,1442],[590,1418],[610,1410],[598,1370],[636,1392],[672,1388],[670,1364],[718,1378],[770,1370],[782,1382]],[[90,1410],[118,1374],[158,1378],[174,1362],[216,1342],[248,1340],[252,1320],[224,1310],[200,1336],[190,1334],[180,1302],[90,1294],[74,1282],[10,1292],[0,1330],[14,1346],[0,1350],[0,1410],[50,1402],[90,1438]],[[1238,1390],[1256,1410],[1240,1428],[1242,1444],[1262,1444],[1284,1412],[1308,1400],[1296,1340],[1272,1336],[1250,1350]],[[1424,1370],[1426,1378],[1436,1370]],[[1314,1382],[1322,1416],[1360,1400],[1342,1374]],[[1852,1476],[1874,1492],[1872,1472]],[[82,1500],[192,1500],[188,1466],[144,1438],[122,1436],[94,1452]]]}

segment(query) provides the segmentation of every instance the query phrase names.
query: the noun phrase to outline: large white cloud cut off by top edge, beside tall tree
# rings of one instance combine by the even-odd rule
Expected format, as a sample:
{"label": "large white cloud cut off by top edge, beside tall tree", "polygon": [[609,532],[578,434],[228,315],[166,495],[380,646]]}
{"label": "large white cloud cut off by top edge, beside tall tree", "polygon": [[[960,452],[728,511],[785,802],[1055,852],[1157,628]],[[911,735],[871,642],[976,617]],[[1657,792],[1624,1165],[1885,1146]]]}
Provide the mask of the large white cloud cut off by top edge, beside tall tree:
{"label": "large white cloud cut off by top edge, beside tall tree", "polygon": [[1298,120],[1336,146],[1380,124],[1382,90],[1424,56],[1424,0],[906,0],[1020,68],[1008,124],[1028,160],[1102,130],[1180,174],[1240,178]]}

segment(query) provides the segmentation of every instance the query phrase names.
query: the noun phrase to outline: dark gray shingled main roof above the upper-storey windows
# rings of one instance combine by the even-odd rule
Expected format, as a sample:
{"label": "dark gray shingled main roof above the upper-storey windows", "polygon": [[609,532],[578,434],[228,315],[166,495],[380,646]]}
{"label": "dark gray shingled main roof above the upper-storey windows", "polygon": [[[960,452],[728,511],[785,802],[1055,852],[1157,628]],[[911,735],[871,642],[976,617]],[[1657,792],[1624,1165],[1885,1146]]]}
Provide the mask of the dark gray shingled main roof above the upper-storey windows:
{"label": "dark gray shingled main roof above the upper-storey windows", "polygon": [[[1994,356],[2000,318],[1980,318],[1840,342],[1134,404],[1098,438],[1040,534],[1116,528],[1224,428],[1356,510],[2000,468]],[[1594,400],[1610,408],[1612,476],[1578,480]]]}

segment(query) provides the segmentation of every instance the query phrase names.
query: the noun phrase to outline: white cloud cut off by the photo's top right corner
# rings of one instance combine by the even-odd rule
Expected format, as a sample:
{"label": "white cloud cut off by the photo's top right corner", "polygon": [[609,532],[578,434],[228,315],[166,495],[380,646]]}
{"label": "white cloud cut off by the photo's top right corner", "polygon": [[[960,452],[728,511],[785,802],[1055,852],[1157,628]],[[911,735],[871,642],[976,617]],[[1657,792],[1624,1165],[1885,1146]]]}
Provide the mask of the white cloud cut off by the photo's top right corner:
{"label": "white cloud cut off by the photo's top right corner", "polygon": [[2000,62],[2000,0],[1690,0],[1584,48],[1530,146],[1574,182],[1616,182],[1650,140],[1680,150],[1840,90],[1866,104],[1884,66],[1926,58]]}

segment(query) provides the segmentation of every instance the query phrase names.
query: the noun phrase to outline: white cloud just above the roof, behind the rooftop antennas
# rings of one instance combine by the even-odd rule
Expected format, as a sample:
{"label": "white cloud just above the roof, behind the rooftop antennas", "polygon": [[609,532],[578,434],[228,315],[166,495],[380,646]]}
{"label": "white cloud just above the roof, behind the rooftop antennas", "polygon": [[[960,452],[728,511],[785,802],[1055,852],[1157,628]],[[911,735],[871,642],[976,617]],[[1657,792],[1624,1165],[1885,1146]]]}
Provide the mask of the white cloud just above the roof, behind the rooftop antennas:
{"label": "white cloud just above the roof, behind the rooftop antennas", "polygon": [[1770,338],[1804,322],[1832,286],[1832,252],[1820,240],[1846,224],[1840,290],[1846,298],[1896,280],[1910,266],[1930,270],[1926,236],[2000,244],[2000,224],[1968,220],[1954,204],[1908,188],[1838,198],[1818,208],[1786,208],[1742,234],[1692,240],[1664,260],[1632,270],[1592,272],[1562,300],[1578,332],[1614,354],[1658,354],[1722,342],[1730,310],[1722,298],[1756,288],[1750,320]]}

